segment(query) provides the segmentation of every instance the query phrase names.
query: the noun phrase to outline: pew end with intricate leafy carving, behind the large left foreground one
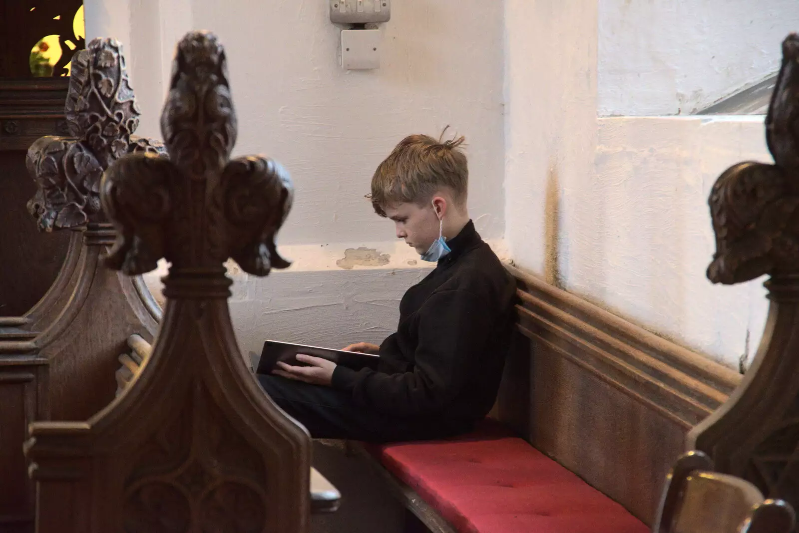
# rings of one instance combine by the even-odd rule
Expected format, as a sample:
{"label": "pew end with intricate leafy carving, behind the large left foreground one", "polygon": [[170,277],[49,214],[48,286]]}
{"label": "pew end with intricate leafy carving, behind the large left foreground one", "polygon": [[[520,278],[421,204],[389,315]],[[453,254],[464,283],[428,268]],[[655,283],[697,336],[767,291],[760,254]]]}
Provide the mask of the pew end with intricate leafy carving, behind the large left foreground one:
{"label": "pew end with intricate leafy carving, behind the large left foreground one", "polygon": [[133,136],[139,111],[121,45],[94,39],[73,60],[66,99],[71,137],[45,136],[28,150],[38,187],[28,210],[41,231],[74,231],[66,267],[31,310],[36,344],[50,360],[51,416],[83,420],[114,397],[117,356],[129,335],[153,338],[160,310],[141,282],[103,267],[115,232],[100,205],[109,164],[130,152],[165,157],[159,141]]}

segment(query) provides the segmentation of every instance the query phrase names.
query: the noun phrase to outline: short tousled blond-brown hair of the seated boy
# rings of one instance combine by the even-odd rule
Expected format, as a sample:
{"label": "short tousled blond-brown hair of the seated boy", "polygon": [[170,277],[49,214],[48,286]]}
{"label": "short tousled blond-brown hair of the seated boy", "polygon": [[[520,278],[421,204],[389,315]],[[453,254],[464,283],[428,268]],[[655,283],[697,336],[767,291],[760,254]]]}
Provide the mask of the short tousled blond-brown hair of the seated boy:
{"label": "short tousled blond-brown hair of the seated boy", "polygon": [[372,176],[372,193],[367,195],[378,215],[386,216],[384,208],[396,203],[421,206],[441,188],[452,192],[458,206],[466,203],[469,169],[460,148],[465,138],[442,141],[447,128],[439,140],[427,135],[405,137],[378,165]]}

